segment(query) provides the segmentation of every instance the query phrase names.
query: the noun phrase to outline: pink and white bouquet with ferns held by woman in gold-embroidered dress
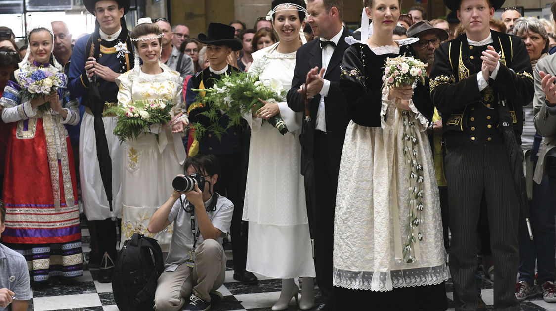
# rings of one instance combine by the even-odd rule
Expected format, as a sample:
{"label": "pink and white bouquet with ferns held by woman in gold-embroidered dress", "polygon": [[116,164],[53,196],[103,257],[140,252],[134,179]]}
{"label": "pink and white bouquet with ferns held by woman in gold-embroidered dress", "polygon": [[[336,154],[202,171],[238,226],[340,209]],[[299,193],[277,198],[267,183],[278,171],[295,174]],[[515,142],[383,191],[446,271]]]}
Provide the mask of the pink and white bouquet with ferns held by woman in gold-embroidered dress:
{"label": "pink and white bouquet with ferns held by woman in gold-embroidered dress", "polygon": [[168,123],[171,120],[171,110],[172,101],[145,99],[110,107],[103,114],[116,115],[114,134],[123,142],[137,139],[142,133],[147,133],[151,126],[163,126]]}

